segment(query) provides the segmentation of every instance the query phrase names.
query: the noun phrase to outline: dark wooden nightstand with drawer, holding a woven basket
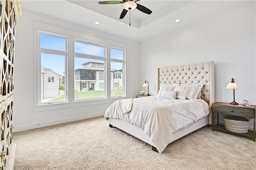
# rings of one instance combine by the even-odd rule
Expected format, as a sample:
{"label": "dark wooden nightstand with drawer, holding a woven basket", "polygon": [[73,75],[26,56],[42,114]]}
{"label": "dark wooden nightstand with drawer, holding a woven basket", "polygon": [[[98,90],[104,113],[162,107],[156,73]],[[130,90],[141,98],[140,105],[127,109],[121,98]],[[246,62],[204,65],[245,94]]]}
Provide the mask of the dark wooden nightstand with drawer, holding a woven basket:
{"label": "dark wooden nightstand with drawer, holding a woven basket", "polygon": [[[252,140],[255,141],[255,113],[256,106],[250,105],[244,106],[244,105],[231,105],[230,103],[222,103],[222,102],[216,102],[212,104],[212,131],[214,129],[222,130],[225,132],[230,132],[234,134],[239,134],[243,136],[252,137]],[[214,113],[217,113],[217,124],[214,125]],[[236,133],[231,132],[229,130],[226,130],[224,125],[219,124],[219,113],[224,115],[233,115],[233,116],[239,116],[239,117],[246,117],[246,118],[252,118],[253,119],[253,130],[248,130],[247,133]]]}

